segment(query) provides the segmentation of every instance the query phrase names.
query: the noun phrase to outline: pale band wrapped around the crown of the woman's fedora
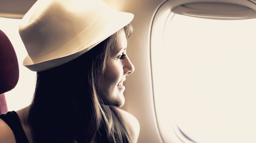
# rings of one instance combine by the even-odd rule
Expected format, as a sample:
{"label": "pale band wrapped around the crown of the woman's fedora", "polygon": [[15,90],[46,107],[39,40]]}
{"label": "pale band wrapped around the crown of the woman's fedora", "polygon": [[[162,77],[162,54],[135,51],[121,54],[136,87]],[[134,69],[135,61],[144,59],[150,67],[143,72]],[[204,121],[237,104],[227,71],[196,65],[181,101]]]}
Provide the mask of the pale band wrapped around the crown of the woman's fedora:
{"label": "pale band wrapped around the crown of the woman's fedora", "polygon": [[37,58],[31,58],[32,62],[35,64],[42,61],[74,54],[86,43],[92,40],[102,29],[104,29],[104,27],[107,26],[107,24],[110,22],[110,18],[107,15],[112,14],[109,10],[103,9],[97,19],[72,40],[68,41],[66,44],[62,45],[49,54]]}

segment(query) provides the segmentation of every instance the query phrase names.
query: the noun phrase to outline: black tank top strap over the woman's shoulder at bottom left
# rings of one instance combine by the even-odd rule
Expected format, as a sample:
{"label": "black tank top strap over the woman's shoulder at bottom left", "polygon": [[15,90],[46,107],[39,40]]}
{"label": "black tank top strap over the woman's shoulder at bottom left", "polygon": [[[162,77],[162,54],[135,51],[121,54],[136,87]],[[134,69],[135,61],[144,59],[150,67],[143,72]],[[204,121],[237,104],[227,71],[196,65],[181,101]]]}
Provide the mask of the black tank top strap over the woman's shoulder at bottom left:
{"label": "black tank top strap over the woman's shoulder at bottom left", "polygon": [[29,143],[27,136],[22,128],[18,114],[15,111],[0,115],[0,119],[5,121],[11,128],[17,143]]}

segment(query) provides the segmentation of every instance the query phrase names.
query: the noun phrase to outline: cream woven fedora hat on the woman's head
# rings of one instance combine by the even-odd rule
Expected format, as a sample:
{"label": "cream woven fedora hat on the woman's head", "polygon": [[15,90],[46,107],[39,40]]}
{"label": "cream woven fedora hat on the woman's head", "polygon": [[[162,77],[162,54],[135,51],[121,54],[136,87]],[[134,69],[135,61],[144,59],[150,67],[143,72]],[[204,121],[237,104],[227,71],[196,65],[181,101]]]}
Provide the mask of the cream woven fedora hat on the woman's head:
{"label": "cream woven fedora hat on the woman's head", "polygon": [[125,25],[134,15],[101,0],[38,0],[23,17],[20,37],[28,56],[23,65],[44,71],[84,54]]}

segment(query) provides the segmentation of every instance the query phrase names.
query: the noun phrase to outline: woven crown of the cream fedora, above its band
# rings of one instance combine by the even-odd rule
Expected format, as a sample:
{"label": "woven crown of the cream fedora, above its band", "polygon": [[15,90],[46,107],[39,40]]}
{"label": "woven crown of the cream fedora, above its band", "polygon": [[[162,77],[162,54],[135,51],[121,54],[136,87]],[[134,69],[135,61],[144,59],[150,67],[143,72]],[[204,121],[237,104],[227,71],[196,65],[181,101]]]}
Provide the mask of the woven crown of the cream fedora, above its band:
{"label": "woven crown of the cream fedora, above its band", "polygon": [[29,56],[58,49],[92,24],[104,8],[108,7],[100,0],[38,0],[19,27]]}

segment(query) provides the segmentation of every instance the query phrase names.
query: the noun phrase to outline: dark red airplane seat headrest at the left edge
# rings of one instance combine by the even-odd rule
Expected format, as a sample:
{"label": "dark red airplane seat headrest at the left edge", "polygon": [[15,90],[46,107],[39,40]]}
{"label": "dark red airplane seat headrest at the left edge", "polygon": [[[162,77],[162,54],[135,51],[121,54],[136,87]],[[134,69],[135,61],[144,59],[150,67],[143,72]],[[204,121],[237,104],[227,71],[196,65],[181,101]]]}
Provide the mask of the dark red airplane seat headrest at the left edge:
{"label": "dark red airplane seat headrest at the left edge", "polygon": [[0,30],[0,114],[8,112],[5,92],[13,89],[19,80],[18,59],[11,41]]}

